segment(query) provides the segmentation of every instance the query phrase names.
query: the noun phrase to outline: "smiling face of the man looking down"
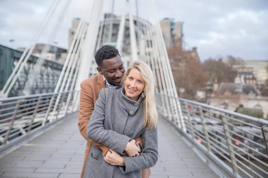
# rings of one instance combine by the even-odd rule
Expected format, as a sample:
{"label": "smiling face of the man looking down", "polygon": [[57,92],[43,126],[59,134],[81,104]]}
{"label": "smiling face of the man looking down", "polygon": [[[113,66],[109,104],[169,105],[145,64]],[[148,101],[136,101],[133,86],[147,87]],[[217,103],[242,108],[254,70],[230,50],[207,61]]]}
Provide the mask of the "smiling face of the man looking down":
{"label": "smiling face of the man looking down", "polygon": [[120,85],[125,72],[123,62],[119,55],[111,59],[103,60],[103,65],[97,67],[97,70],[110,84],[116,86]]}

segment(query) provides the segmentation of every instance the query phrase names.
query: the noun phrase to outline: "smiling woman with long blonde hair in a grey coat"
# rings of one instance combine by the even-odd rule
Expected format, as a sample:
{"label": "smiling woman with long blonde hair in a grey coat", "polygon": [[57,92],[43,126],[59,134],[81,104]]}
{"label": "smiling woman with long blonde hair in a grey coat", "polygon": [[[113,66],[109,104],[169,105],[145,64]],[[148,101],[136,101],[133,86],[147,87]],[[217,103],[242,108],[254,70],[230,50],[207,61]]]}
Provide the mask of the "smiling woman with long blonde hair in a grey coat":
{"label": "smiling woman with long blonde hair in a grey coat", "polygon": [[[158,116],[150,66],[142,61],[134,62],[125,72],[122,85],[121,89],[105,88],[99,93],[87,136],[110,150],[103,157],[101,151],[91,147],[85,178],[140,178],[142,169],[153,167],[157,162]],[[141,152],[133,140],[140,135]],[[129,156],[122,156],[124,152]]]}

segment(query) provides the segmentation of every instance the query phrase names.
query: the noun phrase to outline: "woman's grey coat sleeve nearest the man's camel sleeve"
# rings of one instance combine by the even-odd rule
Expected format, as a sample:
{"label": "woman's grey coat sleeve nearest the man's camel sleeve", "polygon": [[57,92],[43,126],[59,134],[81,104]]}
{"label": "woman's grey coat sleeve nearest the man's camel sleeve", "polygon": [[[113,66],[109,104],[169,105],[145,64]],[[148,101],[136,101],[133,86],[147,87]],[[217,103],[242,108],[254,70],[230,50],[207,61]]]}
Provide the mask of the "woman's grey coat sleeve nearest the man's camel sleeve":
{"label": "woman's grey coat sleeve nearest the man's camel sleeve", "polygon": [[95,108],[87,125],[87,137],[98,143],[106,145],[110,149],[123,154],[130,137],[119,134],[113,130],[105,130],[103,126],[105,116],[106,96],[105,89],[101,89]]}

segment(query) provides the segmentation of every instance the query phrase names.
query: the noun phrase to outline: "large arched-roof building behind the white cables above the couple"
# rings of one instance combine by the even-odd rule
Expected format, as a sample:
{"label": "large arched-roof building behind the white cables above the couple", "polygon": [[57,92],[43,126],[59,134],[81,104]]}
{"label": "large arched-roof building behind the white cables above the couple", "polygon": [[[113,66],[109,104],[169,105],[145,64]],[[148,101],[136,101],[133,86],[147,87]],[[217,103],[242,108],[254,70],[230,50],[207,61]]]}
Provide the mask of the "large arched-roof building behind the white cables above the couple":
{"label": "large arched-roof building behind the white cables above the couple", "polygon": [[[111,20],[113,21],[112,31],[111,31],[111,40],[109,41],[109,31],[110,31],[110,23]],[[101,33],[99,33],[97,38],[97,45],[96,48],[99,48],[102,45],[112,45],[116,46],[117,41],[117,35],[119,31],[119,25],[121,21],[121,16],[116,16],[113,14],[104,14],[103,20],[100,22],[99,30]],[[137,18],[136,16],[133,16],[133,21],[135,25],[135,32],[136,32],[136,42],[137,42],[137,52],[140,53],[139,46],[141,45],[141,42],[144,42],[144,44],[147,46],[145,48],[145,52],[151,52],[153,45],[150,39],[147,39],[147,30],[144,30],[144,27],[149,26],[150,23],[147,20],[144,20],[142,18]],[[72,21],[72,27],[69,29],[69,49],[71,47],[72,41],[74,40],[76,30],[79,26],[80,18],[75,18]],[[143,37],[143,38],[141,38]],[[129,32],[129,15],[126,14],[126,21],[125,21],[125,31],[124,31],[124,39],[123,39],[123,48],[122,52],[120,54],[122,61],[124,62],[124,66],[129,66],[132,61],[131,54],[131,43],[130,43],[130,32]],[[144,46],[141,47],[141,49],[144,49]],[[91,70],[94,70],[93,74],[98,73],[96,70],[96,64],[94,61],[92,61]]]}

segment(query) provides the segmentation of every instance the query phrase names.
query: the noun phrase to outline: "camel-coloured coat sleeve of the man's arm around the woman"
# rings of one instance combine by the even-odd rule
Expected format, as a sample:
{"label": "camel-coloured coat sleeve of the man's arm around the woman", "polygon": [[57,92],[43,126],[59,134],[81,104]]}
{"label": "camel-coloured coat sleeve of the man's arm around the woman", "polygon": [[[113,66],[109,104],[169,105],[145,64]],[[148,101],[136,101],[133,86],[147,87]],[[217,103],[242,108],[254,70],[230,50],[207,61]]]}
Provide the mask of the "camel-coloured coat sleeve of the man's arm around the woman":
{"label": "camel-coloured coat sleeve of the man's arm around the woman", "polygon": [[82,82],[80,84],[80,88],[81,91],[78,114],[78,127],[80,134],[94,147],[99,150],[102,150],[102,155],[105,156],[109,148],[87,137],[87,124],[94,109],[92,88],[88,86],[86,82]]}

